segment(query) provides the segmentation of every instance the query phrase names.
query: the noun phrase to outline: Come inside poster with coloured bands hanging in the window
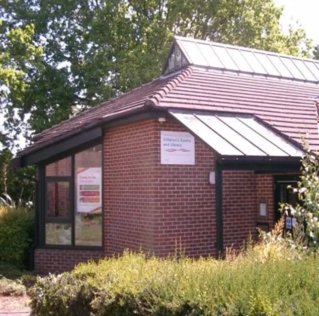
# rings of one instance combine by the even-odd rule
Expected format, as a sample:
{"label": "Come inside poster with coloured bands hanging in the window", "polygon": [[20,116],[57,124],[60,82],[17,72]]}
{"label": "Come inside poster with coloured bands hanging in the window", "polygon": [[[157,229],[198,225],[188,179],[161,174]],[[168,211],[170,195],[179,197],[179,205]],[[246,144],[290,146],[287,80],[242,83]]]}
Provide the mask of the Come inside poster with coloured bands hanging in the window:
{"label": "Come inside poster with coloured bands hanging in the window", "polygon": [[77,168],[77,212],[102,212],[102,168]]}

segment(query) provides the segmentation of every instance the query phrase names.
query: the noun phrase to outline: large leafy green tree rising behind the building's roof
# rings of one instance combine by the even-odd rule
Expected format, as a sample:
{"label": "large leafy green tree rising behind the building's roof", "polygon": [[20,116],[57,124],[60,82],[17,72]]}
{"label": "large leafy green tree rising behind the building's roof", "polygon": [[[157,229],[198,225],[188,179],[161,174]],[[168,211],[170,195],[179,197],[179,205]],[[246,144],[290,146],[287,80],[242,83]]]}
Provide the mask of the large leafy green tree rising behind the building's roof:
{"label": "large leafy green tree rising behind the building's roof", "polygon": [[33,24],[44,48],[24,101],[9,106],[35,132],[158,77],[173,35],[309,53],[303,30],[283,34],[273,0],[0,1],[6,27]]}

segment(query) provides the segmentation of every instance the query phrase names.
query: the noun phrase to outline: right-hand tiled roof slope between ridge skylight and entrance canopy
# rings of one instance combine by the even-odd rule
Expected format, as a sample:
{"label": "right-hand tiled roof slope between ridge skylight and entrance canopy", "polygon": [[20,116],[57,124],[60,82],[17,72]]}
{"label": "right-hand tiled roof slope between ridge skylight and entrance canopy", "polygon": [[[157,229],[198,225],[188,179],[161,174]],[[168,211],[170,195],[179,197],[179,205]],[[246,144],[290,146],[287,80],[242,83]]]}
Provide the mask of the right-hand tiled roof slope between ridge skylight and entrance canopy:
{"label": "right-hand tiled roof slope between ridge skylight and entrance canopy", "polygon": [[314,83],[264,78],[190,67],[192,72],[164,97],[154,95],[154,105],[256,115],[279,132],[300,143],[307,140],[319,150]]}

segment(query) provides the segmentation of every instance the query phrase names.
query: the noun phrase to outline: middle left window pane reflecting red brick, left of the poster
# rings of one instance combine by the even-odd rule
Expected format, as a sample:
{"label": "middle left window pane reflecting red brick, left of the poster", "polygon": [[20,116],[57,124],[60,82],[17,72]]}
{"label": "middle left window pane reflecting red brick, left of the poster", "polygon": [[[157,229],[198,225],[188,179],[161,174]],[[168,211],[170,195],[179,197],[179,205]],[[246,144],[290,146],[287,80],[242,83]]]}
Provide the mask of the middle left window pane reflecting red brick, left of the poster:
{"label": "middle left window pane reflecting red brick, left of the poster", "polygon": [[47,182],[47,216],[49,218],[69,217],[69,182]]}

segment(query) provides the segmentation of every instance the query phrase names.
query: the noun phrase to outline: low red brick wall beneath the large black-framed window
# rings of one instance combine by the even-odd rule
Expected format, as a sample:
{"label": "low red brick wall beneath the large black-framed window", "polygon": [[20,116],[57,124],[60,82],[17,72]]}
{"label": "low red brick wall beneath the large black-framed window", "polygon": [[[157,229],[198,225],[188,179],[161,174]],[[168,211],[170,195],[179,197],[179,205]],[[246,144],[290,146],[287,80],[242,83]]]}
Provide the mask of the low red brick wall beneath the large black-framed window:
{"label": "low red brick wall beneath the large black-framed window", "polygon": [[79,262],[103,257],[102,251],[70,249],[36,249],[34,253],[35,270],[38,273],[60,273],[72,270]]}

